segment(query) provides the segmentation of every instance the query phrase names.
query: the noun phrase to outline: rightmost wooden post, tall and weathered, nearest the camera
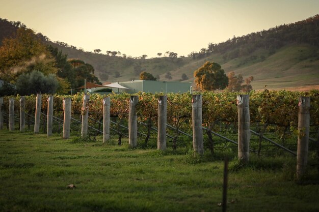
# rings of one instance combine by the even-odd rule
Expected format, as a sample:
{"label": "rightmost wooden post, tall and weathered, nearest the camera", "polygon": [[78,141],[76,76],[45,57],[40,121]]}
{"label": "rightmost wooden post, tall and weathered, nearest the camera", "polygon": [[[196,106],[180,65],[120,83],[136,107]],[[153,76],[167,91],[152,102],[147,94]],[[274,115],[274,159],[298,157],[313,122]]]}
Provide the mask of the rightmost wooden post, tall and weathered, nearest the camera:
{"label": "rightmost wooden post, tall and weathered, nearest the camera", "polygon": [[307,168],[310,128],[310,97],[299,98],[297,179],[301,180]]}

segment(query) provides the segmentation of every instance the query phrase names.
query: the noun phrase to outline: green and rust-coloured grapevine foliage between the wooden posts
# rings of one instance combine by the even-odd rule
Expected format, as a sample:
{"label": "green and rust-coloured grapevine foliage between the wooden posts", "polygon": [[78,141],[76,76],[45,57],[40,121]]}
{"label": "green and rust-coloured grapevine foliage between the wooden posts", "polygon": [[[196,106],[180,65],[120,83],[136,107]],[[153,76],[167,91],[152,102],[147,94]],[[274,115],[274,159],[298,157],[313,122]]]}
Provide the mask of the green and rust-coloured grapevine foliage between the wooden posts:
{"label": "green and rust-coloured grapevine foliage between the wooden posts", "polygon": [[[204,148],[211,153],[218,150],[235,151],[237,139],[237,95],[239,93],[202,93],[202,125],[204,130]],[[138,117],[139,145],[156,147],[157,139],[157,106],[158,97],[163,94],[138,93],[136,107]],[[127,119],[129,114],[130,94],[111,94],[111,138],[128,137]],[[298,136],[298,103],[300,96],[310,97],[310,143],[309,148],[315,149],[319,126],[319,94],[317,91],[308,93],[270,91],[252,91],[249,94],[251,152],[290,152],[297,149]],[[88,102],[89,136],[92,139],[102,132],[103,98],[106,96],[92,94]],[[9,99],[4,98],[3,111],[8,126]],[[46,128],[48,95],[42,95],[43,133]],[[71,133],[81,133],[81,116],[83,94],[73,96],[54,96],[54,133],[63,128],[63,99],[71,98]],[[20,97],[14,97],[15,114],[19,111]],[[36,96],[25,97],[26,124],[28,128],[34,124]],[[6,118],[7,117],[7,118]],[[18,115],[16,115],[18,120]],[[18,128],[18,127],[17,127]],[[17,129],[16,128],[16,129]],[[176,149],[191,145],[192,140],[192,94],[167,95],[167,138],[168,146]]]}

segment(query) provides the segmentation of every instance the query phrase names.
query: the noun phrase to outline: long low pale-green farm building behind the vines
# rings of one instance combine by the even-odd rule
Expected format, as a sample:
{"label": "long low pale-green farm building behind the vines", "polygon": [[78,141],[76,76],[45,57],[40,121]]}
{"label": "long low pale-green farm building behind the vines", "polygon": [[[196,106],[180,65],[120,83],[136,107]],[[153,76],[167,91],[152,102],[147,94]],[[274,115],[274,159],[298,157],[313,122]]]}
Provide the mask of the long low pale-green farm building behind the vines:
{"label": "long low pale-green farm building behind the vines", "polygon": [[185,93],[191,89],[191,82],[132,80],[127,82],[119,82],[119,84],[128,88],[123,90],[123,92],[126,92],[126,93],[137,93],[137,92]]}

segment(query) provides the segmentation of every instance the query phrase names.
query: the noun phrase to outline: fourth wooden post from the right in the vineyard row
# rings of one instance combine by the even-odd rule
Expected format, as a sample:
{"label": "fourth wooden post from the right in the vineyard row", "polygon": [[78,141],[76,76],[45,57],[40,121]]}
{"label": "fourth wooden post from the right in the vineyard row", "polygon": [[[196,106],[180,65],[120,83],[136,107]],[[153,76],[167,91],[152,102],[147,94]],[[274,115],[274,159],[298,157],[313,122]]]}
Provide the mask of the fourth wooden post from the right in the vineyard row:
{"label": "fourth wooden post from the right in the vineyard row", "polygon": [[167,96],[158,97],[157,149],[166,150]]}

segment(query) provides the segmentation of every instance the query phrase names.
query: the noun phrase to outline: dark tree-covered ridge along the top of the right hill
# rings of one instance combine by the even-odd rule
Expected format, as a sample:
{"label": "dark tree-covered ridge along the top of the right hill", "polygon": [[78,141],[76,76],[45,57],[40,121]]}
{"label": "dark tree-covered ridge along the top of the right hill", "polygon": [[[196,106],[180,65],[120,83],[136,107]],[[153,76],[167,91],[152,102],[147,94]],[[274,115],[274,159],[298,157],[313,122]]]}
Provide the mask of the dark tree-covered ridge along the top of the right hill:
{"label": "dark tree-covered ridge along the top of the right hill", "polygon": [[215,52],[224,54],[224,59],[233,59],[249,55],[258,48],[268,49],[270,53],[274,53],[287,43],[319,46],[319,15],[241,37],[234,36],[219,44],[209,43],[207,48],[201,48],[199,52],[193,51],[188,56],[197,59]]}

